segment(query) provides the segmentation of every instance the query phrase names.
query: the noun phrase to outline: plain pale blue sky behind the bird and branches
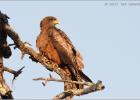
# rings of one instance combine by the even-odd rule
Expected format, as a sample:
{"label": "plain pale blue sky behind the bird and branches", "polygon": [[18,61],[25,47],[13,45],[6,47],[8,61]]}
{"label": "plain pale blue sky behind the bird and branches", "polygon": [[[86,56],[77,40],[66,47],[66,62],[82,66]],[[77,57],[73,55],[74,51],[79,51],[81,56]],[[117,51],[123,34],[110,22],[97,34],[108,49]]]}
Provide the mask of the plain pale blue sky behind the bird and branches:
{"label": "plain pale blue sky behind the bird and branches", "polygon": [[[0,10],[11,18],[10,25],[23,41],[35,48],[39,23],[45,16],[60,20],[65,31],[84,58],[83,70],[94,82],[106,88],[75,99],[140,99],[140,6],[105,6],[104,1],[0,1]],[[120,2],[119,2],[120,3]],[[8,39],[9,43],[13,43]],[[37,49],[36,49],[37,50]],[[32,81],[51,73],[13,50],[5,66],[26,66],[12,86],[12,75],[5,73],[16,99],[48,99],[63,91],[63,83]],[[55,73],[51,73],[57,77]]]}

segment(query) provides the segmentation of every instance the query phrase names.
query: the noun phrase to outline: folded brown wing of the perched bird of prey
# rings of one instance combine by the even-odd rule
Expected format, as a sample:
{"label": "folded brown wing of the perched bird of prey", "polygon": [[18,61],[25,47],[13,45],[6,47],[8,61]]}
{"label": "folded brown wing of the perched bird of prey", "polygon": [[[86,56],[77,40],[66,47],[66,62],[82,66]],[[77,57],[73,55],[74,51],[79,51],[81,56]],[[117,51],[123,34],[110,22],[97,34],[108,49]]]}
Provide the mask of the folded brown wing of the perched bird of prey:
{"label": "folded brown wing of the perched bird of prey", "polygon": [[59,52],[63,63],[73,64],[78,69],[83,68],[83,60],[80,53],[75,49],[68,36],[60,29],[54,28],[52,31],[52,43]]}

